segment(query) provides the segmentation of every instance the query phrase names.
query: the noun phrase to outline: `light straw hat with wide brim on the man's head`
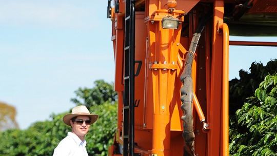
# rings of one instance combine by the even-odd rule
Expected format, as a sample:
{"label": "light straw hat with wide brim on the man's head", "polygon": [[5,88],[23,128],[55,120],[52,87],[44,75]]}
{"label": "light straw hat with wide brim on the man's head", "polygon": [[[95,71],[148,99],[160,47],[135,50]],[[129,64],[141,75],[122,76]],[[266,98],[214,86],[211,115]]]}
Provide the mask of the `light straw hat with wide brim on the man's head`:
{"label": "light straw hat with wide brim on the man's head", "polygon": [[91,114],[86,106],[81,105],[81,106],[74,107],[72,109],[71,114],[66,114],[64,116],[63,120],[64,120],[65,124],[67,124],[68,126],[71,126],[70,125],[70,120],[72,118],[74,118],[75,116],[81,116],[81,115],[82,116],[89,116],[90,124],[93,124],[98,119],[98,115]]}

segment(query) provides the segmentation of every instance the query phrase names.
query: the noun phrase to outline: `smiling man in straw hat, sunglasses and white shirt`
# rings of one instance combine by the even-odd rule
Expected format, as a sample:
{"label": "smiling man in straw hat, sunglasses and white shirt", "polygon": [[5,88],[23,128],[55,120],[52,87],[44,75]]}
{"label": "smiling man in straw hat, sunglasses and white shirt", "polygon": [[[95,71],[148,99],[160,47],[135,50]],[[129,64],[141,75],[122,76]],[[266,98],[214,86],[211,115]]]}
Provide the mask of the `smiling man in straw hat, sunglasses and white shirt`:
{"label": "smiling man in straw hat, sunglasses and white shirt", "polygon": [[66,114],[63,118],[64,123],[71,126],[72,131],[68,132],[66,138],[57,145],[53,156],[88,156],[85,135],[97,118],[98,115],[90,114],[86,106],[74,107],[71,114]]}

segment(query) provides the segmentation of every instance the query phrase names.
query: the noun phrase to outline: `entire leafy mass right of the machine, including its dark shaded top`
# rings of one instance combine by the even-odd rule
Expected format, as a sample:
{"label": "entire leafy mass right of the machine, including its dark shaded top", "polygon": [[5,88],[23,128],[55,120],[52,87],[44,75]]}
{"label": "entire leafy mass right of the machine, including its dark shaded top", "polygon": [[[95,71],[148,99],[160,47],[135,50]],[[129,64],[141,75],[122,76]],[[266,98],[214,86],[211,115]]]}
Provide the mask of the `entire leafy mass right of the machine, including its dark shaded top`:
{"label": "entire leafy mass right of the machine, including its dark shaded top", "polygon": [[229,154],[276,155],[277,60],[250,71],[229,82]]}

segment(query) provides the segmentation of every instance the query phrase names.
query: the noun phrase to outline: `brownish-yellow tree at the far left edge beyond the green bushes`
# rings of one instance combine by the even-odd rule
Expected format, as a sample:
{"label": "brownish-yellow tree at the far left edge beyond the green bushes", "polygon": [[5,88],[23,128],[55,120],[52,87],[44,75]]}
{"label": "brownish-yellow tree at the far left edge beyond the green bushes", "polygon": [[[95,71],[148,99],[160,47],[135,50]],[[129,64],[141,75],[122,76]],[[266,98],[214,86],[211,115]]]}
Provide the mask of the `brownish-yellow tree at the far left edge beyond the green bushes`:
{"label": "brownish-yellow tree at the far left edge beyond the green bushes", "polygon": [[13,106],[0,102],[0,131],[18,128],[15,116],[16,109]]}

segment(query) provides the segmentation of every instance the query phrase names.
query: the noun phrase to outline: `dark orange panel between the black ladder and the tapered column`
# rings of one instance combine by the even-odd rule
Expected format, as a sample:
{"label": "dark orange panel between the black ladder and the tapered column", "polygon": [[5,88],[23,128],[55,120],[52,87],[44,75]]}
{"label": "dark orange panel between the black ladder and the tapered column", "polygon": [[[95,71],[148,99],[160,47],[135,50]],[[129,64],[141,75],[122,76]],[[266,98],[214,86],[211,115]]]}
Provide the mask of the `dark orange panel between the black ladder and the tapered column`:
{"label": "dark orange panel between the black ladder and the tapered column", "polygon": [[141,62],[141,69],[138,72],[138,63],[135,64],[135,143],[137,148],[149,150],[152,148],[152,131],[145,129],[145,70],[146,70],[146,42],[147,27],[144,23],[144,12],[136,12],[135,14],[135,61]]}

